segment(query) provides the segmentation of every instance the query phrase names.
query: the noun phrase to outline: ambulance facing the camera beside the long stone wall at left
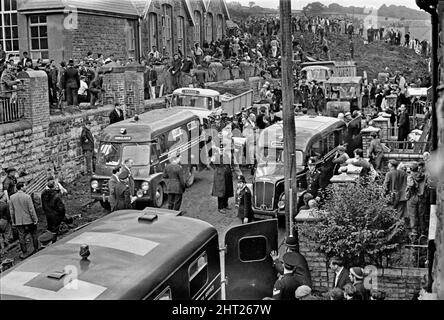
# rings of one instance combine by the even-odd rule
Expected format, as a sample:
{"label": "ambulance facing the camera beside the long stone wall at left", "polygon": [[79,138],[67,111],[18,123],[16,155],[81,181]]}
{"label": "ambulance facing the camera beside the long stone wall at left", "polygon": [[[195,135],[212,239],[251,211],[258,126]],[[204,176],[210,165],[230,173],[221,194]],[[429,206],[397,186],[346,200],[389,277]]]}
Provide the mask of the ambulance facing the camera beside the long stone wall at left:
{"label": "ambulance facing the camera beside the long stone wall at left", "polygon": [[132,159],[136,205],[161,207],[165,196],[163,170],[179,153],[184,175],[193,182],[199,165],[201,127],[199,117],[180,109],[158,109],[114,123],[99,137],[96,171],[91,177],[91,197],[109,209],[108,180],[116,166]]}

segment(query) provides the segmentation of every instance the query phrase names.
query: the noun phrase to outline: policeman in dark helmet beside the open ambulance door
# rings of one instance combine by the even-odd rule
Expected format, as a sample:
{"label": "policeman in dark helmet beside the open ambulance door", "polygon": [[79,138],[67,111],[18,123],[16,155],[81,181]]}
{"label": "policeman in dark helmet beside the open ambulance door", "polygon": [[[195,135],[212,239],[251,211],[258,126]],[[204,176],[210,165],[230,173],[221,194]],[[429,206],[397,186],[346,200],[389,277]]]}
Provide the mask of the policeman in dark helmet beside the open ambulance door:
{"label": "policeman in dark helmet beside the open ambulance door", "polygon": [[[293,275],[298,279],[299,282],[311,287],[311,274],[308,267],[307,260],[305,257],[298,252],[298,242],[295,237],[288,236],[285,240],[285,245],[287,246],[286,252],[294,253],[294,260],[296,263]],[[283,262],[279,259],[279,255],[276,251],[270,253],[270,257],[273,260],[273,267],[278,272],[279,275],[284,274]]]}

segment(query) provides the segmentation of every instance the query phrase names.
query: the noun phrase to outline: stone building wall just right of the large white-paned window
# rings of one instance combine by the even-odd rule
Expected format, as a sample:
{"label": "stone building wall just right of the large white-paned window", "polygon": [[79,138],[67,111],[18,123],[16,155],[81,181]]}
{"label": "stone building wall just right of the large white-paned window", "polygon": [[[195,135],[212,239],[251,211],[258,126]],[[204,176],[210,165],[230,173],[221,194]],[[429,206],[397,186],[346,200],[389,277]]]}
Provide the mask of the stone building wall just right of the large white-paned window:
{"label": "stone building wall just right of the large white-paned window", "polygon": [[66,30],[71,33],[72,58],[82,59],[88,51],[102,53],[105,58],[114,54],[116,59],[134,56],[127,44],[128,20],[116,17],[96,16],[80,13],[78,28]]}

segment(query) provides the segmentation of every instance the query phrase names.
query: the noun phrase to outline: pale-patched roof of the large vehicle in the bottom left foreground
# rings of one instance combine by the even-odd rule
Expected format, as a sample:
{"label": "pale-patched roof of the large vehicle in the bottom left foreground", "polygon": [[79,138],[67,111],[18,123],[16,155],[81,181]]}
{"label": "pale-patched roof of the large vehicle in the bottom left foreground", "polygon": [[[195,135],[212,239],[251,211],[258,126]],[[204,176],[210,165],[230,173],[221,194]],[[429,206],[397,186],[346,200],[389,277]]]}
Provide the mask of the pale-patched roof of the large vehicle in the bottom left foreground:
{"label": "pale-patched roof of the large vehicle in the bottom left foreground", "polygon": [[[144,212],[136,210],[113,212],[7,270],[0,299],[143,299],[217,235],[204,221],[146,210],[157,220],[141,223]],[[88,260],[80,258],[82,244],[89,246]],[[76,272],[76,290],[67,288],[67,276],[48,277],[67,266]]]}

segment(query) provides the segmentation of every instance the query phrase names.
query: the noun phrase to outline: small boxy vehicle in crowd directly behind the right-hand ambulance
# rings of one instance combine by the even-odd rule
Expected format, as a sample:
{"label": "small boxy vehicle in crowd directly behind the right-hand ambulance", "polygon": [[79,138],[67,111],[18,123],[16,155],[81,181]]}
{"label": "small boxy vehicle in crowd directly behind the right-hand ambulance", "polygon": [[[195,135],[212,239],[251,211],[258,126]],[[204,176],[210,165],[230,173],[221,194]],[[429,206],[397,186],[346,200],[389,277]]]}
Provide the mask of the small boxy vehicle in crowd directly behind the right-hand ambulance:
{"label": "small boxy vehicle in crowd directly behind the right-hand ambulance", "polygon": [[[331,77],[325,82],[325,97],[327,104],[330,101],[349,102],[350,112],[361,109],[362,84],[362,77]],[[331,106],[334,108],[335,105],[331,104]],[[331,112],[332,111],[330,111],[330,113]],[[329,110],[327,110],[327,114],[329,114]]]}

